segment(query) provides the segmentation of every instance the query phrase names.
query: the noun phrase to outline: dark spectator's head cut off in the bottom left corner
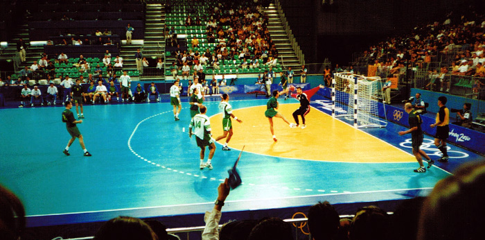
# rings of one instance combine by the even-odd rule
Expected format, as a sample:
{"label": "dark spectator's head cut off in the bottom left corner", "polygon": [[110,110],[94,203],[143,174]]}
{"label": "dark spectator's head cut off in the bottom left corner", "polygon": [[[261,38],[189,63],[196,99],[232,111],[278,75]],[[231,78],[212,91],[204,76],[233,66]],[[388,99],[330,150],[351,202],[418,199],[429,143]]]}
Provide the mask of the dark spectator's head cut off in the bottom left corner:
{"label": "dark spectator's head cut off in the bottom left corner", "polygon": [[3,240],[23,239],[26,228],[25,209],[20,199],[0,185],[0,236]]}

